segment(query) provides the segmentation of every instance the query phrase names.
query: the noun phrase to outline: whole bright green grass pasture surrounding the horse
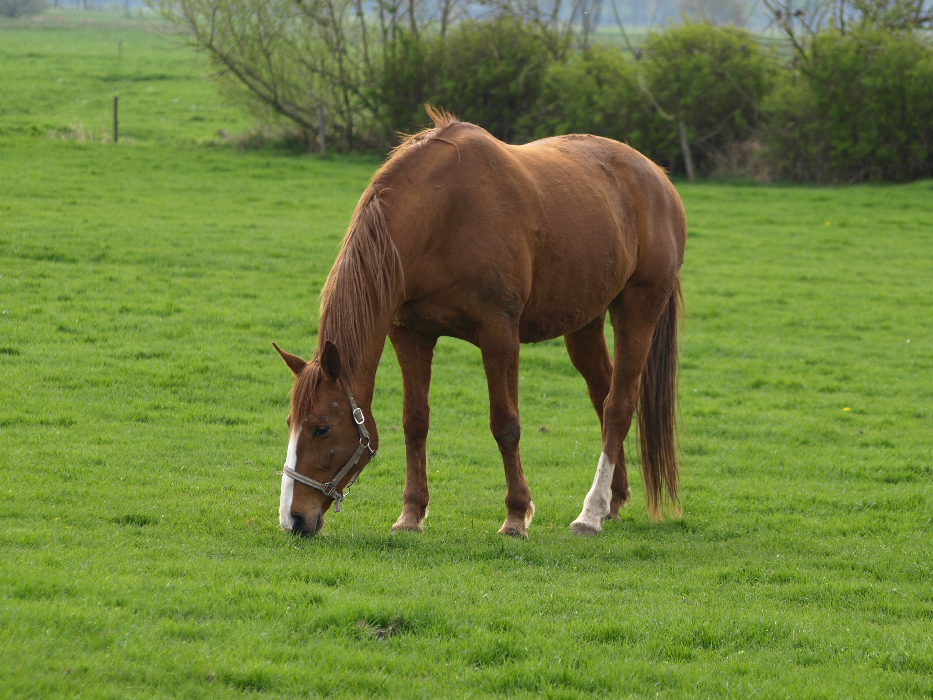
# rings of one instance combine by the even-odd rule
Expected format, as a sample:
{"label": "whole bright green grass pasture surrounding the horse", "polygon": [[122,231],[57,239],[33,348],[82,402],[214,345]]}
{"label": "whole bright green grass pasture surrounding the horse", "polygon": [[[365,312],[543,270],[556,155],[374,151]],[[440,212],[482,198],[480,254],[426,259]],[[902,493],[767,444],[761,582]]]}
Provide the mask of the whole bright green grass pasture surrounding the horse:
{"label": "whole bright green grass pasture surrounding the horse", "polygon": [[[570,536],[599,429],[558,340],[522,350],[531,539],[498,537],[480,355],[442,340],[425,532],[388,532],[387,348],[381,455],[294,539],[271,343],[311,353],[376,161],[216,144],[248,119],[145,28],[5,26],[0,697],[933,696],[933,183],[679,186],[682,520],[633,464]],[[100,74],[128,143],[50,138],[105,117]]]}

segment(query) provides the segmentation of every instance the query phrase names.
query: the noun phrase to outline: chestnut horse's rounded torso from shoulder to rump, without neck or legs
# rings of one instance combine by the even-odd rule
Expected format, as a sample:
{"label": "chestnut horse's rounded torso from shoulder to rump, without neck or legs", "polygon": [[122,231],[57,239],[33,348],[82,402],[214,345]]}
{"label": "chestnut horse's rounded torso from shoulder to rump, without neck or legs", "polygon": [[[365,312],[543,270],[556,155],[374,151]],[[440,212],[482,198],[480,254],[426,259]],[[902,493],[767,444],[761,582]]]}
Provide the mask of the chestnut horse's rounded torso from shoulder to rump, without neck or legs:
{"label": "chestnut horse's rounded torso from shoulder to rump, without neck or legs", "polygon": [[405,202],[390,228],[409,253],[412,321],[470,340],[492,306],[536,342],[582,327],[627,284],[673,284],[683,206],[633,148],[578,134],[508,146],[466,123],[439,136],[389,192]]}

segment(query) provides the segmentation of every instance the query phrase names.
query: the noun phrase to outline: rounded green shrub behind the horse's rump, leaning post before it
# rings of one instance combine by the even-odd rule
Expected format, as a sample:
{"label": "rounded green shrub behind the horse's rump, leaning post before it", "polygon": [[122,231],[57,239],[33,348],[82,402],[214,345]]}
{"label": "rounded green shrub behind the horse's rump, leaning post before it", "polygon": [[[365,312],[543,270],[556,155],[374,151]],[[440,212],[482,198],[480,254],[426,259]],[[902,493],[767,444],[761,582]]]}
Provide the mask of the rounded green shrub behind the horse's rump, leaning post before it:
{"label": "rounded green shrub behind the horse's rump, leaning post before it", "polygon": [[[773,89],[778,63],[747,32],[685,22],[648,36],[642,65],[648,89],[669,116],[682,119],[700,172],[727,165],[731,149],[752,138],[761,100]],[[683,171],[672,120],[653,119],[646,134],[653,157]]]}

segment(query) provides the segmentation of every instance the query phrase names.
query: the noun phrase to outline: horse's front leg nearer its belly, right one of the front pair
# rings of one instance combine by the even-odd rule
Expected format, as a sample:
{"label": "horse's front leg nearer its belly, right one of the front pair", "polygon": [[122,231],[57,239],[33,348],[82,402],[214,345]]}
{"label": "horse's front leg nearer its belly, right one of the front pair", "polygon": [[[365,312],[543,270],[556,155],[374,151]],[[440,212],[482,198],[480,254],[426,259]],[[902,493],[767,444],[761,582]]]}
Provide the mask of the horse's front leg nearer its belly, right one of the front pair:
{"label": "horse's front leg nearer its belly, right one of the front pair", "polygon": [[506,522],[499,534],[527,538],[527,527],[535,516],[535,504],[519,455],[522,424],[519,420],[518,329],[486,329],[480,333],[479,344],[489,385],[489,427],[506,470]]}

